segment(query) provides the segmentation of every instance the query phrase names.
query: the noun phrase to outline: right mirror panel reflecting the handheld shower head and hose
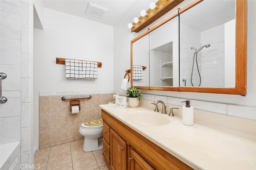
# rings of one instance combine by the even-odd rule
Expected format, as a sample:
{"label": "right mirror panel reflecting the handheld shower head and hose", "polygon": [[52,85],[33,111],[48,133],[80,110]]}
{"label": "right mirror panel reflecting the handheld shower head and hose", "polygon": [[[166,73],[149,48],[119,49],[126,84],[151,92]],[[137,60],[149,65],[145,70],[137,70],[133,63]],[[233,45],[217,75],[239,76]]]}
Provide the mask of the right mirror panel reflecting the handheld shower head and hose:
{"label": "right mirror panel reflecting the handheld shower head and hose", "polygon": [[235,87],[235,11],[204,0],[180,14],[180,86]]}

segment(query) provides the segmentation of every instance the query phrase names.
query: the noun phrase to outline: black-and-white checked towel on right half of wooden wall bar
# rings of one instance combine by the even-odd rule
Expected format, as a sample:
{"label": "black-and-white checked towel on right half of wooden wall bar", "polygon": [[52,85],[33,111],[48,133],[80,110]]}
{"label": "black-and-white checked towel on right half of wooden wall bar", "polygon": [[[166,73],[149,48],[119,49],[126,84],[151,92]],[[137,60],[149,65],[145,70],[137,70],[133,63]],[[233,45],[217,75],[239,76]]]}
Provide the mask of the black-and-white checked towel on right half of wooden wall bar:
{"label": "black-and-white checked towel on right half of wooden wall bar", "polygon": [[93,61],[82,61],[82,73],[85,79],[97,79],[98,78],[98,63]]}

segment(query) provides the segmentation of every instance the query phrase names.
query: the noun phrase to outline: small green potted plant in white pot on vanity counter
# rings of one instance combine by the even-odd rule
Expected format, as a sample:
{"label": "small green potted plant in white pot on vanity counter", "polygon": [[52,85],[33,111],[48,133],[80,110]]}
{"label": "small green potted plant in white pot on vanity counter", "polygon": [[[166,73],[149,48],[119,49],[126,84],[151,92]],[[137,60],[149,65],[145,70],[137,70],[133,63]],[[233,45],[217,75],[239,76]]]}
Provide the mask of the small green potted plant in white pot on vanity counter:
{"label": "small green potted plant in white pot on vanity counter", "polygon": [[140,91],[135,87],[130,87],[126,91],[126,97],[128,97],[128,105],[131,108],[136,108],[139,105],[139,100],[141,97]]}

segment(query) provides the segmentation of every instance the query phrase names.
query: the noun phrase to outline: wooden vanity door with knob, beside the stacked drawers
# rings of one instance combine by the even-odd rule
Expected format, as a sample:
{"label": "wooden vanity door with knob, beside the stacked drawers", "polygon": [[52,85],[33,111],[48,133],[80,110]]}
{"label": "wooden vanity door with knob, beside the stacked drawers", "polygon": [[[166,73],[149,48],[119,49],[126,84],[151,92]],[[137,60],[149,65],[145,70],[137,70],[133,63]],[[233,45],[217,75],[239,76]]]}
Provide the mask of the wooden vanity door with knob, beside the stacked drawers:
{"label": "wooden vanity door with knob, beside the stacked drawers", "polygon": [[110,128],[110,167],[112,170],[127,169],[127,144]]}

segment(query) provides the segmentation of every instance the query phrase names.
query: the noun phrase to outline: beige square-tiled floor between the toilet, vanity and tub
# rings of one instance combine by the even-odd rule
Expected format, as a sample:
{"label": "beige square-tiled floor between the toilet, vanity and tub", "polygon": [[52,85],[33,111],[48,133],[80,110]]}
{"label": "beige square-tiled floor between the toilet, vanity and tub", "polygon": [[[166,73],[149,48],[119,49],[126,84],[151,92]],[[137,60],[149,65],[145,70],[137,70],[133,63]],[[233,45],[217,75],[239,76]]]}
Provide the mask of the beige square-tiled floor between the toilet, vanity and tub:
{"label": "beige square-tiled floor between the toilet, vanity and tub", "polygon": [[102,155],[102,149],[83,151],[84,139],[39,149],[34,164],[40,170],[109,170]]}

